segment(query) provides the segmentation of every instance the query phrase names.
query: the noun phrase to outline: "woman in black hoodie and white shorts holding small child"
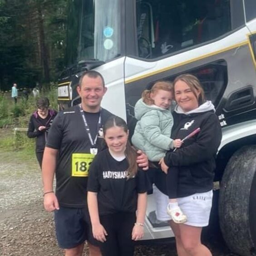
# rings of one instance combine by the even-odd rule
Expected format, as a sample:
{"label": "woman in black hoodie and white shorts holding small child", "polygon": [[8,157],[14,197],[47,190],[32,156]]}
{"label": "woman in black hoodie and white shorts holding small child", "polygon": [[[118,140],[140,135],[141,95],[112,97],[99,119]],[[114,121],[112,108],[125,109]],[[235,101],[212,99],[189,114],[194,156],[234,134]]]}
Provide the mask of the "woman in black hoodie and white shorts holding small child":
{"label": "woman in black hoodie and white shorts holding small child", "polygon": [[199,80],[182,74],[174,82],[177,107],[174,110],[172,138],[185,138],[197,128],[200,132],[184,140],[181,148],[160,160],[162,171],[178,170],[178,204],[187,222],[171,221],[178,256],[211,256],[201,243],[202,227],[207,226],[212,207],[215,156],[221,142],[221,127],[211,101],[206,101]]}

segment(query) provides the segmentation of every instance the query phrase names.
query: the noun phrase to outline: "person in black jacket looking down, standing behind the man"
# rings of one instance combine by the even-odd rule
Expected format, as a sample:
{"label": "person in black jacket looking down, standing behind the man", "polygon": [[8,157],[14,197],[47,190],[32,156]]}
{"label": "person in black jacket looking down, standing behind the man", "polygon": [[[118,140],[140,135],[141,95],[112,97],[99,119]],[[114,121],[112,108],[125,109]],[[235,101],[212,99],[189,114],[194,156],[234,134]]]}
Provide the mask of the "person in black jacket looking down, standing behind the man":
{"label": "person in black jacket looking down, standing behind the man", "polygon": [[53,119],[57,115],[55,110],[49,109],[49,105],[49,99],[46,97],[39,98],[36,101],[37,111],[35,111],[30,117],[27,132],[29,138],[36,138],[35,153],[41,168],[48,131]]}

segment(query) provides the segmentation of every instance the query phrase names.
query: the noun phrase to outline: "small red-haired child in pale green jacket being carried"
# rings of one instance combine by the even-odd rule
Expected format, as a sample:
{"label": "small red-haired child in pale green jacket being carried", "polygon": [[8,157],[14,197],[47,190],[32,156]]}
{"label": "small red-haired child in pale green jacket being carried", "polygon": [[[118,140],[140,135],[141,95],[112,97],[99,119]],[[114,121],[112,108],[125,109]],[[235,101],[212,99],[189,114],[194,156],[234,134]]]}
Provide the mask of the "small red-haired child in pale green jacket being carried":
{"label": "small red-haired child in pale green jacket being carried", "polygon": [[[132,143],[136,148],[143,150],[148,159],[161,172],[158,162],[170,149],[180,148],[182,141],[173,140],[171,129],[173,125],[170,106],[172,103],[172,83],[168,81],[156,82],[151,90],[143,91],[142,98],[135,105],[135,118],[138,119]],[[172,168],[169,173],[171,184],[167,184],[169,204],[167,213],[176,223],[184,223],[187,218],[182,213],[177,203],[177,168]]]}

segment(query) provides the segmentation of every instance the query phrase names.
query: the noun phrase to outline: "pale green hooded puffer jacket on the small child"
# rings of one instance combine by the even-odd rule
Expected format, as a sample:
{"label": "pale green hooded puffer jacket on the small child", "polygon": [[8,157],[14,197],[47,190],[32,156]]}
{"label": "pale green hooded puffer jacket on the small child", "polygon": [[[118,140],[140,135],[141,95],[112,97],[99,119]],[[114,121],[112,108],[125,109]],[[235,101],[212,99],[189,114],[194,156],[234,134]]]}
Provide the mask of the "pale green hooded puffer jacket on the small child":
{"label": "pale green hooded puffer jacket on the small child", "polygon": [[133,145],[143,150],[150,161],[159,161],[167,150],[173,148],[173,140],[170,138],[173,125],[171,111],[146,105],[140,99],[134,113],[138,122],[132,137]]}

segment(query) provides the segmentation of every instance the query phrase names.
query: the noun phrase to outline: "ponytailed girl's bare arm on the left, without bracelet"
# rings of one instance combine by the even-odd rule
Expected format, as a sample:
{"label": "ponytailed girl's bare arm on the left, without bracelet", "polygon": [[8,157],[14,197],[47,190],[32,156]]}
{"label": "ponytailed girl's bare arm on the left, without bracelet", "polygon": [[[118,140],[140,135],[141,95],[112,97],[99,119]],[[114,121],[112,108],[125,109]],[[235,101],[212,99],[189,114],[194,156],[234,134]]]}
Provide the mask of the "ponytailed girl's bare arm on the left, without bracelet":
{"label": "ponytailed girl's bare arm on the left, without bracelet", "polygon": [[95,239],[101,242],[106,241],[107,231],[100,224],[98,215],[98,199],[96,192],[87,192],[87,203],[89,209],[89,215],[93,228],[93,236]]}

